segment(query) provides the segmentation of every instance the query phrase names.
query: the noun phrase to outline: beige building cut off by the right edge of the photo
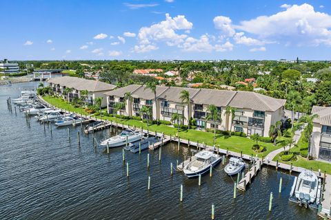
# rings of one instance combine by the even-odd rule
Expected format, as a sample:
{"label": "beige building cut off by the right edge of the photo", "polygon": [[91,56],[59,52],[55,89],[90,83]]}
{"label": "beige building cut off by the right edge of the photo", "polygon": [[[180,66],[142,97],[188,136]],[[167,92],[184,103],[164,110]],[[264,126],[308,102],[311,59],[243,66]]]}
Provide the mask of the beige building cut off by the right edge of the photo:
{"label": "beige building cut off by the right edge of the photo", "polygon": [[312,107],[314,119],[310,139],[310,155],[318,159],[331,160],[331,107]]}

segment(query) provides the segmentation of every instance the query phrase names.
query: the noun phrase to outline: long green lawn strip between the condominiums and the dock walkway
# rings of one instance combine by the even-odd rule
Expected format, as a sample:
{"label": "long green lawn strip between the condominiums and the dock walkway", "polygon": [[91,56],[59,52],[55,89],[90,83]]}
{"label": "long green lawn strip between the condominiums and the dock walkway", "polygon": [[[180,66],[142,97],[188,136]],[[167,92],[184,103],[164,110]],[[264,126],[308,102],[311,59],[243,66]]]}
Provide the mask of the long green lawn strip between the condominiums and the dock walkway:
{"label": "long green lawn strip between the condominiums and the dock walkway", "polygon": [[[74,108],[71,104],[68,104],[67,102],[63,101],[61,98],[53,98],[50,96],[44,97],[44,100],[46,102],[49,102],[50,104],[53,104],[54,106],[66,109],[68,111],[75,111],[77,113],[86,114],[86,111],[84,111],[81,108]],[[97,116],[97,118],[101,118],[100,116]],[[136,126],[138,129],[141,129],[141,126],[143,129],[149,129],[150,131],[154,132],[157,131],[158,133],[164,133],[165,135],[177,135],[177,128],[174,128],[172,126],[168,126],[165,124],[150,124],[150,126],[147,126],[146,123],[138,121],[138,120],[121,120],[120,118],[115,117],[109,117],[109,116],[103,116],[103,120],[108,120],[112,122],[118,122],[119,124],[128,124],[130,126]],[[198,131],[198,130],[187,130],[183,131],[180,130],[179,137],[181,139],[188,140],[190,139],[192,142],[197,142],[202,144],[204,142],[205,144],[208,144],[212,146],[214,144],[214,133],[211,132],[205,132],[205,131]],[[265,142],[259,142],[261,146],[263,146],[266,150],[263,153],[255,153],[252,150],[253,144],[255,142],[253,140],[250,140],[250,138],[247,137],[239,137],[239,136],[225,136],[225,135],[217,135],[215,140],[215,145],[219,146],[223,149],[229,149],[229,151],[234,151],[237,153],[240,153],[243,151],[243,154],[246,155],[258,155],[259,157],[263,157],[265,155],[268,155],[271,151],[274,151],[278,148],[281,148],[285,145],[285,142],[282,142],[281,140],[288,139],[288,137],[281,137],[279,138],[279,143],[277,146],[274,146],[272,143],[265,143]]]}

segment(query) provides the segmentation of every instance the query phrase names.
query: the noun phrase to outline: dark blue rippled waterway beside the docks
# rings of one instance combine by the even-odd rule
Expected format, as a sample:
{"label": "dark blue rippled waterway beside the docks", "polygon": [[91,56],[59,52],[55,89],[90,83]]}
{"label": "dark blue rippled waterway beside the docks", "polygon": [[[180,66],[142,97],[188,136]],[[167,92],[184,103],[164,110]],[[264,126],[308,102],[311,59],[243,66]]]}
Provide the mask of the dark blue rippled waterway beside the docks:
{"label": "dark blue rippled waterway beside the docks", "polygon": [[[187,179],[170,162],[183,160],[188,148],[167,144],[159,151],[126,153],[130,177],[122,162],[121,148],[110,154],[92,144],[92,135],[81,135],[71,127],[50,129],[31,118],[28,126],[22,113],[10,113],[8,96],[36,83],[0,87],[0,219],[210,219],[212,203],[216,219],[317,219],[317,211],[288,201],[294,176],[262,168],[246,192],[233,199],[234,181],[217,166],[213,177]],[[97,140],[113,135],[110,129],[96,133]],[[147,170],[147,153],[150,169]],[[148,175],[151,190],[147,190]],[[279,178],[283,177],[279,193]],[[183,203],[179,202],[183,184]],[[268,212],[270,192],[274,194]]]}

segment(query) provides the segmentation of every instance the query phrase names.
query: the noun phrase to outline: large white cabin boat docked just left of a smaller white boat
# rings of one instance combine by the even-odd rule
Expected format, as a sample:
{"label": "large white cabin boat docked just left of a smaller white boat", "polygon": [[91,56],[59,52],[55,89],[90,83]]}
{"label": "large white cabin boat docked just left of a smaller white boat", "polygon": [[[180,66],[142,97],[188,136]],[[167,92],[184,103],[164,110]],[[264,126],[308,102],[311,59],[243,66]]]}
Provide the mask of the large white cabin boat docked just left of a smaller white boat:
{"label": "large white cabin boat docked just left of a smaller white boat", "polygon": [[221,162],[221,157],[211,151],[200,151],[191,158],[191,162],[188,162],[183,168],[183,172],[188,178],[203,175]]}

